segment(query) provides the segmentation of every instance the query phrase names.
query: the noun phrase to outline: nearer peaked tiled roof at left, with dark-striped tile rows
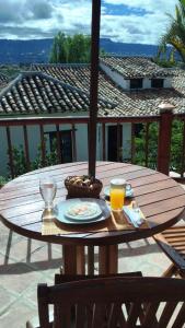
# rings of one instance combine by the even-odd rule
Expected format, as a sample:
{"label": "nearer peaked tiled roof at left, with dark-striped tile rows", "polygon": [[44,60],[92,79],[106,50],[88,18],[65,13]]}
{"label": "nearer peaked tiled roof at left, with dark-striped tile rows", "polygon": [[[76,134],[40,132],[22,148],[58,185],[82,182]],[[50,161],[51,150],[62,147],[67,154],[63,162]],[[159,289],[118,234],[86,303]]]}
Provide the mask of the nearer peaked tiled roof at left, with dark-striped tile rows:
{"label": "nearer peaked tiled roof at left, with dark-striped tile rows", "polygon": [[[0,92],[0,115],[47,115],[86,112],[89,93],[42,72],[25,72]],[[100,112],[113,108],[113,102],[99,99]]]}

